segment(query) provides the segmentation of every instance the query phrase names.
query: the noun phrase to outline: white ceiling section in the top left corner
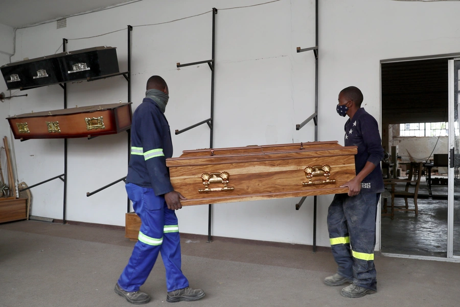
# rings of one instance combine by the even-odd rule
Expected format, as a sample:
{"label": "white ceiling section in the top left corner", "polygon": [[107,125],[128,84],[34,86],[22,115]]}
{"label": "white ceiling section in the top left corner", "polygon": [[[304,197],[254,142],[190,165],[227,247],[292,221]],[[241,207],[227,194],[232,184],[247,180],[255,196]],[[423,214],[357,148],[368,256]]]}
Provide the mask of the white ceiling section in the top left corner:
{"label": "white ceiling section in the top left corner", "polygon": [[0,24],[20,28],[127,2],[132,0],[0,0]]}

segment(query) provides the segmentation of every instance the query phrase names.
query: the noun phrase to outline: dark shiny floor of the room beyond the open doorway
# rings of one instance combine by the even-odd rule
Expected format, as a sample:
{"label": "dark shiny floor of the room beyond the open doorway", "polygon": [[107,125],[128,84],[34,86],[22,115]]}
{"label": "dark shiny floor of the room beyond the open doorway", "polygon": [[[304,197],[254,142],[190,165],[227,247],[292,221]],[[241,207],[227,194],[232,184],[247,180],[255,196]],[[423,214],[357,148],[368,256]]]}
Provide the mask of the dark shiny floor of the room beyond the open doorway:
{"label": "dark shiny floor of the room beyond the open doorway", "polygon": [[[447,178],[439,174],[433,174],[432,177]],[[404,184],[399,184],[397,189],[403,190]],[[447,257],[447,186],[431,186],[431,191],[432,195],[429,195],[425,178],[422,178],[418,216],[413,211],[396,211],[394,220],[382,216],[382,252]],[[459,202],[459,192],[455,189],[455,203]],[[404,199],[396,198],[395,206],[404,207]],[[455,207],[458,214],[460,204]],[[409,209],[413,209],[413,200],[410,199]],[[454,217],[454,221],[454,255],[460,255],[458,216]]]}

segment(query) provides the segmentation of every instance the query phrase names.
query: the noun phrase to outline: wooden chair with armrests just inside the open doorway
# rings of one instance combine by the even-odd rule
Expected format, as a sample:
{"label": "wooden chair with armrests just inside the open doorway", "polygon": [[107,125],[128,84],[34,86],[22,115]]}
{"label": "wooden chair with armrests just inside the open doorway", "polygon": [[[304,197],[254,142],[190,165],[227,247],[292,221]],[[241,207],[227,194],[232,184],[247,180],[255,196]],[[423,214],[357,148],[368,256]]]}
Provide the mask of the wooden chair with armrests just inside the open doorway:
{"label": "wooden chair with armrests just inside the open doorway", "polygon": [[[422,178],[422,162],[410,162],[409,164],[409,174],[407,179],[389,179],[384,180],[385,185],[390,185],[392,187],[392,218],[394,211],[415,211],[416,216],[419,215],[419,208],[417,206],[417,197],[419,194],[420,179]],[[396,190],[395,185],[397,183],[406,183],[405,189],[403,191]],[[409,187],[414,187],[413,192],[409,191]],[[404,198],[406,204],[405,208],[395,207],[395,198],[400,197]],[[408,199],[413,199],[414,209],[409,209]]]}

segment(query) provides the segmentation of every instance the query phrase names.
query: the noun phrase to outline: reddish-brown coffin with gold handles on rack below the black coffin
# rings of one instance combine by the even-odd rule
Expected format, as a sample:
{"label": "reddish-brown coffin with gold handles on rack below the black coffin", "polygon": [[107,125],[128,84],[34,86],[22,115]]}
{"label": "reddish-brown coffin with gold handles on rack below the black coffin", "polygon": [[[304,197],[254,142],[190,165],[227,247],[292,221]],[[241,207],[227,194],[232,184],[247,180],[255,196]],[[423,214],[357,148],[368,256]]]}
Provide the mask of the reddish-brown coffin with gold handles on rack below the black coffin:
{"label": "reddish-brown coffin with gold handles on rack below the black coffin", "polygon": [[81,106],[8,117],[15,139],[89,138],[131,127],[131,103]]}

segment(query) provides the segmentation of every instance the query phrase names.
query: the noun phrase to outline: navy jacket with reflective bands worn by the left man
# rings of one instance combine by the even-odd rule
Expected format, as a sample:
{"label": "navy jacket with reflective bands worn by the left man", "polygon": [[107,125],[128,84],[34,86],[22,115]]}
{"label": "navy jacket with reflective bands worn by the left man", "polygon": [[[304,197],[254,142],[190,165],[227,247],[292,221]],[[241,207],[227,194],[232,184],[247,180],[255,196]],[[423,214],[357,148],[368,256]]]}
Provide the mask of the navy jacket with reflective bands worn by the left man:
{"label": "navy jacket with reflective bands worn by the left man", "polygon": [[173,147],[165,115],[150,98],[144,98],[132,115],[131,159],[126,182],[151,188],[155,195],[173,191],[166,159]]}

